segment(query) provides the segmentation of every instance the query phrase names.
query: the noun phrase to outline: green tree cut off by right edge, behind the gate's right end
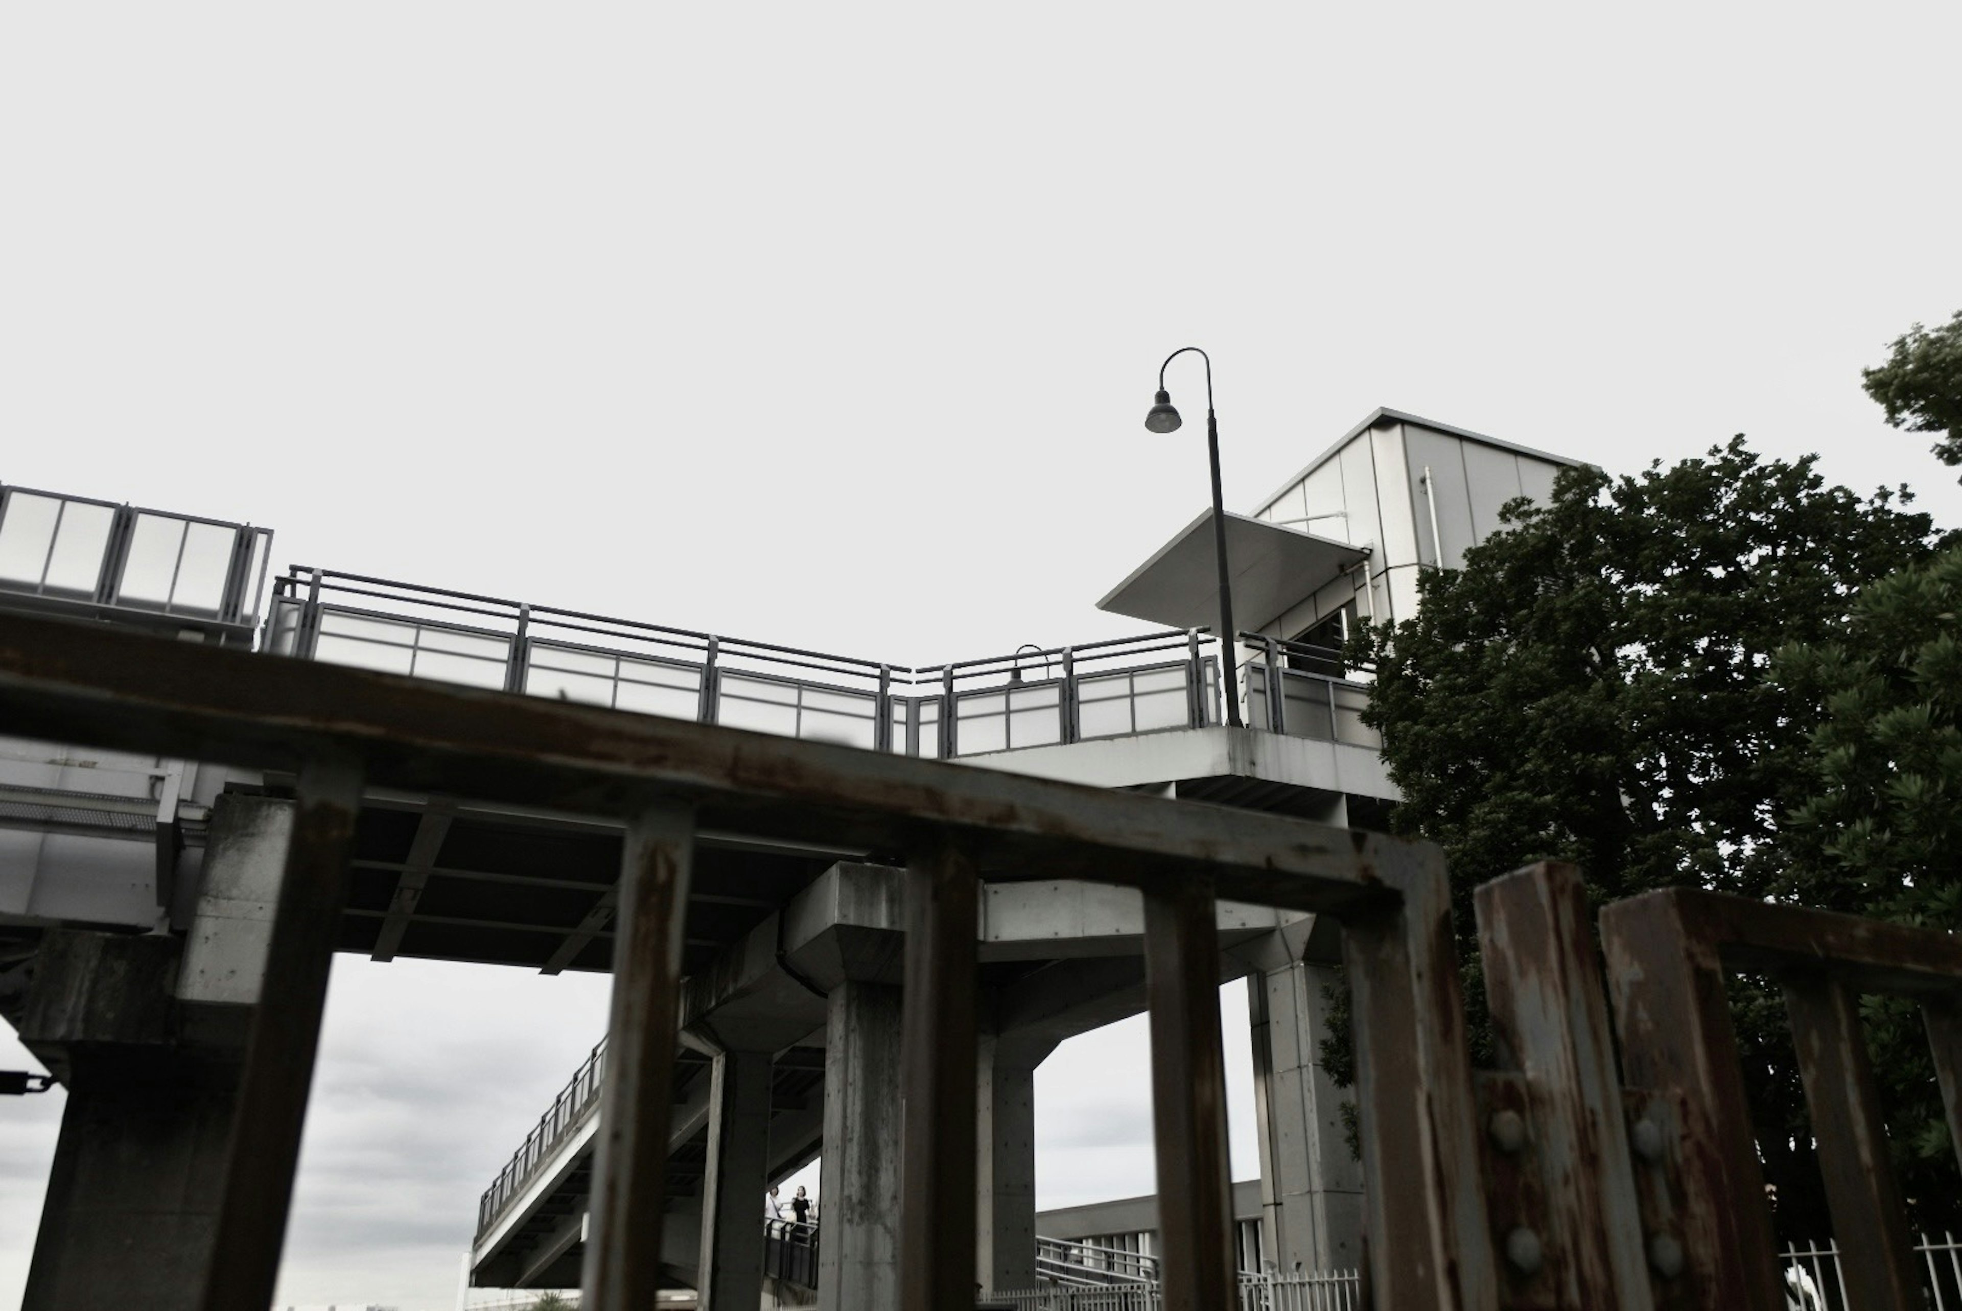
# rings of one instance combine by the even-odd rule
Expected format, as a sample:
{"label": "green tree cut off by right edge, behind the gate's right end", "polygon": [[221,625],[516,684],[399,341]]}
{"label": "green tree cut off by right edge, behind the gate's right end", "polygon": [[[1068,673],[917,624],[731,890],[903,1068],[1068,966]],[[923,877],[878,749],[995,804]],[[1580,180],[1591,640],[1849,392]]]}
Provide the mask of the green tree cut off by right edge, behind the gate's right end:
{"label": "green tree cut off by right edge, behind the gate's right end", "polygon": [[[1811,797],[1789,816],[1780,891],[1962,932],[1962,548],[1860,593],[1844,634],[1778,654],[1811,697]],[[1901,1183],[1929,1229],[1962,1223],[1962,1180],[1911,1003],[1866,997]]]}

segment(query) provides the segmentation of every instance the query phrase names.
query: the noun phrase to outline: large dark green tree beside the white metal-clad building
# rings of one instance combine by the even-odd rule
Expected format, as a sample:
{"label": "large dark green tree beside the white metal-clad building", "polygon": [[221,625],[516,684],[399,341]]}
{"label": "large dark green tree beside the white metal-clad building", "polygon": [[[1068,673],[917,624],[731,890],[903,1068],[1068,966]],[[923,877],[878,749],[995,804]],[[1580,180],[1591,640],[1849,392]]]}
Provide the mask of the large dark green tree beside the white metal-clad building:
{"label": "large dark green tree beside the white metal-clad building", "polygon": [[[1825,487],[1811,457],[1760,459],[1742,438],[1638,477],[1568,469],[1550,504],[1503,520],[1464,569],[1420,579],[1415,618],[1358,638],[1377,667],[1366,720],[1403,793],[1391,826],[1450,860],[1481,1062],[1472,889],[1558,858],[1601,901],[1764,895],[1817,722],[1772,656],[1838,636],[1858,587],[1931,550],[1929,518],[1889,493]],[[1776,997],[1740,983],[1736,1001],[1781,1211],[1821,1223],[1795,1205],[1817,1203],[1817,1174]]]}

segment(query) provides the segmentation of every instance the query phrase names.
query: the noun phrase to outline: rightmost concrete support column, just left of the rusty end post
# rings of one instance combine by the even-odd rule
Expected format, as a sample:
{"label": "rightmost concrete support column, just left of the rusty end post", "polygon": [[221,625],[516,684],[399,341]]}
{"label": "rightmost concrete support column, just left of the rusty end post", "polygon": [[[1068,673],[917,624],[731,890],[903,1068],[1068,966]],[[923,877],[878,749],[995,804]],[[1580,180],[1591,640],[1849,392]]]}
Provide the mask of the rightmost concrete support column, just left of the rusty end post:
{"label": "rightmost concrete support column, just left of the rusty end post", "polygon": [[1362,1264],[1362,1162],[1342,1128],[1344,1095],[1322,1070],[1328,966],[1248,975],[1262,1248],[1283,1274]]}

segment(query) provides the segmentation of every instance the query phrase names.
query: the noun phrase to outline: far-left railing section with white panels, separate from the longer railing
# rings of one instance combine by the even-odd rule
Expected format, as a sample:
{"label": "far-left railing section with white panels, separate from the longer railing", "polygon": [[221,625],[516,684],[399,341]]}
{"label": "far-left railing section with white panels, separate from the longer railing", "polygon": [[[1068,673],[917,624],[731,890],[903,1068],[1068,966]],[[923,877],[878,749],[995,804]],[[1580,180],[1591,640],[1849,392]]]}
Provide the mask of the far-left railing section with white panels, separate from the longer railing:
{"label": "far-left railing section with white panels, separate from the longer railing", "polygon": [[259,628],[273,532],[0,485],[0,593],[16,603],[216,632]]}

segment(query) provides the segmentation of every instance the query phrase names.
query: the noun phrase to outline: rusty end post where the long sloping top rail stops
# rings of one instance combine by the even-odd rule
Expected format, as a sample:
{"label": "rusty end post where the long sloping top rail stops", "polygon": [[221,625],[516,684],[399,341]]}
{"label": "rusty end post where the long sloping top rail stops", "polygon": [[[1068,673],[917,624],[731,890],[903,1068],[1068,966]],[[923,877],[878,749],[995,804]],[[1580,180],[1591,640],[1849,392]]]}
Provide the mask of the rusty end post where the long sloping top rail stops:
{"label": "rusty end post where the long sloping top rail stops", "polygon": [[1362,854],[1369,873],[1403,895],[1342,917],[1375,1305],[1493,1311],[1499,1285],[1444,854],[1375,834]]}

